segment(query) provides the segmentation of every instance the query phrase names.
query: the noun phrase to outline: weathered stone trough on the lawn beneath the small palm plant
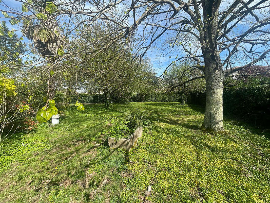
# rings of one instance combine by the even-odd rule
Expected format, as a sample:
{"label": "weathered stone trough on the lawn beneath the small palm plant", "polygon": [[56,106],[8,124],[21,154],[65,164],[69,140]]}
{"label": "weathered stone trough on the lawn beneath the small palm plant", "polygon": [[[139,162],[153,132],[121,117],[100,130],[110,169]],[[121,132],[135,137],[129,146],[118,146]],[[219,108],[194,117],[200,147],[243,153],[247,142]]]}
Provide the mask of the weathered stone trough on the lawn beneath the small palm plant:
{"label": "weathered stone trough on the lawn beneath the small palm plant", "polygon": [[120,148],[130,151],[136,146],[138,138],[141,137],[141,133],[143,133],[143,129],[142,127],[138,127],[135,132],[132,133],[131,136],[127,139],[122,138],[116,140],[114,137],[108,137],[109,146],[111,149]]}

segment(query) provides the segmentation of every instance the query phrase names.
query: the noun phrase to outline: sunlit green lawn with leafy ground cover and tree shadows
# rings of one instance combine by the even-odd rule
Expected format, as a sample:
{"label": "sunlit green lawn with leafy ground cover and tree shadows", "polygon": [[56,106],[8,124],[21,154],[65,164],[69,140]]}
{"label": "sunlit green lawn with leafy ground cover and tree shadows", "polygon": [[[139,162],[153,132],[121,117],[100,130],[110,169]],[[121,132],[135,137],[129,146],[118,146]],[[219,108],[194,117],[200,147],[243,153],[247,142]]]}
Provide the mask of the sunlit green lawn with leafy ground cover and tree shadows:
{"label": "sunlit green lawn with leafy ground cover and tree shadows", "polygon": [[[151,123],[130,153],[112,151],[97,135],[128,107]],[[225,119],[226,133],[209,134],[203,109],[173,102],[76,113],[0,143],[0,202],[270,202],[269,133]]]}

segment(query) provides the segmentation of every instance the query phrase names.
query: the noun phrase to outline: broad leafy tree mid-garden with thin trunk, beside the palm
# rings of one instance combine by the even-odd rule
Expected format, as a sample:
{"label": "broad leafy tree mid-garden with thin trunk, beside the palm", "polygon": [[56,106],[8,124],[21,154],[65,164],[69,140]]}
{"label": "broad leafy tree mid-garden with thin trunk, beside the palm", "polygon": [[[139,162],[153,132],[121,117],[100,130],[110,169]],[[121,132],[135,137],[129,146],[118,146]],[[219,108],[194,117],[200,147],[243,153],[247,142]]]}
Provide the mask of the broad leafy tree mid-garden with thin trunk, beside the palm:
{"label": "broad leafy tree mid-garden with thin trunk, beside the palm", "polygon": [[[74,50],[85,45],[92,46],[92,41],[102,38],[110,33],[115,27],[110,24],[95,24],[89,29]],[[80,37],[81,31],[77,30]],[[76,41],[76,40],[75,40]],[[82,46],[81,46],[82,45]],[[93,47],[93,51],[104,46],[100,41]],[[105,106],[114,102],[128,102],[136,89],[143,83],[142,73],[147,72],[149,64],[145,60],[140,60],[132,54],[132,40],[119,40],[104,50],[102,53],[91,58],[92,52],[82,51],[76,58],[67,58],[68,63],[74,60],[75,68],[69,73],[65,73],[73,85],[76,92],[102,93],[105,98]],[[87,58],[90,60],[86,60]],[[69,81],[69,84],[72,82]],[[139,84],[140,83],[140,84]]]}

